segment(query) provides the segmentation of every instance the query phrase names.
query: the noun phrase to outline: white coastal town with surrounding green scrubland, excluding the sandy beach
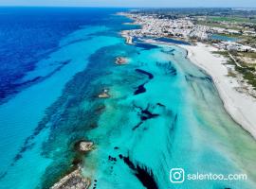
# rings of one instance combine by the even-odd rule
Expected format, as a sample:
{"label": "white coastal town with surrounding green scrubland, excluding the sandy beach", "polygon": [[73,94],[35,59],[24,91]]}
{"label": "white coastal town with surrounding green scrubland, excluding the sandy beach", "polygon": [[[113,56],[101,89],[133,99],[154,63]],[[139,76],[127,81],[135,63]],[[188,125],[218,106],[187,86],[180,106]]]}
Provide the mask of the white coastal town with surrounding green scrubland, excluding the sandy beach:
{"label": "white coastal town with surrounding green scrubland, excluding the sandy beach", "polygon": [[[180,17],[167,17],[166,13],[147,13],[147,11],[121,12],[134,21],[137,29],[124,30],[122,36],[126,43],[133,44],[133,39],[150,37],[151,42],[159,38],[176,39],[188,43],[205,43],[216,48],[215,54],[220,54],[229,59],[229,76],[236,77],[241,87],[237,90],[256,97],[256,47],[247,44],[247,39],[256,37],[253,26],[245,27],[239,23],[229,26],[229,22],[221,22],[219,26],[209,26],[202,21],[207,20],[202,16],[183,15]],[[200,21],[200,24],[199,24]],[[235,36],[235,37],[234,37]],[[254,40],[255,41],[255,40]],[[149,41],[148,41],[149,42]],[[246,81],[246,82],[245,82]]]}

